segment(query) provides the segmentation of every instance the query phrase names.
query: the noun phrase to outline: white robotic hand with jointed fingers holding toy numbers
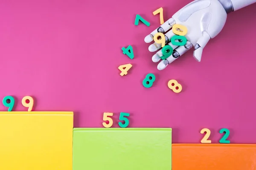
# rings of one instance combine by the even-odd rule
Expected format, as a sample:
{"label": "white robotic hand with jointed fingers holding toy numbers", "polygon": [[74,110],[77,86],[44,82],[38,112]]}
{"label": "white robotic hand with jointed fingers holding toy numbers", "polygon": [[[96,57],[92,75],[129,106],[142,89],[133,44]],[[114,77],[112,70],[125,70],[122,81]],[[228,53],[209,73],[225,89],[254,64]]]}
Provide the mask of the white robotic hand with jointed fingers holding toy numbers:
{"label": "white robotic hand with jointed fingers holding toy numbers", "polygon": [[[145,37],[145,42],[149,43],[153,41],[154,34],[161,32],[165,34],[166,44],[171,45],[174,49],[170,57],[157,65],[157,69],[163,70],[175,59],[189,51],[192,46],[195,48],[193,57],[200,62],[204,47],[211,38],[220,33],[226,23],[227,14],[253,3],[256,3],[256,0],[194,0],[181,8],[172,18]],[[185,35],[187,42],[183,46],[172,45],[170,42],[175,34],[172,31],[167,31],[175,24],[186,26],[188,30]],[[161,44],[153,43],[148,50],[154,52],[160,48]],[[162,55],[162,51],[159,50],[153,55],[152,61],[159,62]]]}

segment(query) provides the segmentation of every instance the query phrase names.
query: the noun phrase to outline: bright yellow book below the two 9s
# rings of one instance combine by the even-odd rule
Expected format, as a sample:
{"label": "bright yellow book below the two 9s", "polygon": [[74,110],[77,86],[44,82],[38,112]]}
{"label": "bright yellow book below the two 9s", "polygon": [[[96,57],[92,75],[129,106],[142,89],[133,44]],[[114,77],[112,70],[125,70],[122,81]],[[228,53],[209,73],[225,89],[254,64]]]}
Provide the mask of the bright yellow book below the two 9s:
{"label": "bright yellow book below the two 9s", "polygon": [[0,170],[72,170],[73,112],[0,112]]}

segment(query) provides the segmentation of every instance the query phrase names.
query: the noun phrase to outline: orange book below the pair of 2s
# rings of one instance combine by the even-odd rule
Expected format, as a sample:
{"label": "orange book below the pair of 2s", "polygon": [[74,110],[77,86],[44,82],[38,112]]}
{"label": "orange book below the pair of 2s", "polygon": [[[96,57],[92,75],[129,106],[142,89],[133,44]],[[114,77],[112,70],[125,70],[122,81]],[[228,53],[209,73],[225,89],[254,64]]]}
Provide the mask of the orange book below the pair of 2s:
{"label": "orange book below the pair of 2s", "polygon": [[256,144],[172,144],[172,170],[256,170]]}

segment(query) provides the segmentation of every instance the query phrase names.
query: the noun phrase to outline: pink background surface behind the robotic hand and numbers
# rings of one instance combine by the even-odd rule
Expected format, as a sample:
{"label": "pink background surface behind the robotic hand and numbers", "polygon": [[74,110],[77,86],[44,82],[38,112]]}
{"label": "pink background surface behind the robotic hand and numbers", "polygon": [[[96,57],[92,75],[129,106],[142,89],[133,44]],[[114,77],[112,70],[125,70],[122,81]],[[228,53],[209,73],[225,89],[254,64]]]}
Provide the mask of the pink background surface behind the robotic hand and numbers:
{"label": "pink background surface behind the robotic hand and numbers", "polygon": [[[35,98],[35,111],[74,111],[75,127],[102,127],[103,112],[131,113],[129,127],[172,127],[174,143],[199,143],[221,128],[231,143],[256,143],[256,4],[228,14],[223,31],[196,62],[192,50],[165,70],[151,61],[144,37],[191,0],[10,0],[0,3],[0,98]],[[154,4],[154,5],[153,5]],[[140,14],[150,27],[134,25]],[[239,25],[241,24],[241,25]],[[132,45],[134,59],[122,54]],[[124,77],[119,65],[131,63]],[[152,88],[144,88],[153,73]],[[175,94],[170,79],[183,85]],[[0,105],[1,111],[7,111]]]}

